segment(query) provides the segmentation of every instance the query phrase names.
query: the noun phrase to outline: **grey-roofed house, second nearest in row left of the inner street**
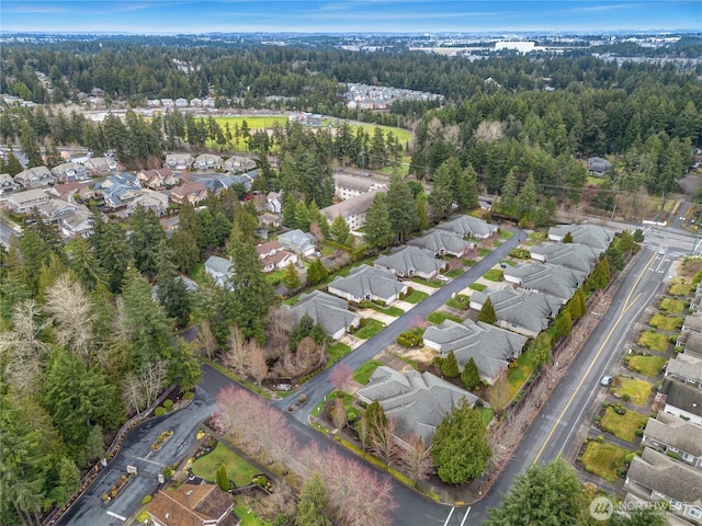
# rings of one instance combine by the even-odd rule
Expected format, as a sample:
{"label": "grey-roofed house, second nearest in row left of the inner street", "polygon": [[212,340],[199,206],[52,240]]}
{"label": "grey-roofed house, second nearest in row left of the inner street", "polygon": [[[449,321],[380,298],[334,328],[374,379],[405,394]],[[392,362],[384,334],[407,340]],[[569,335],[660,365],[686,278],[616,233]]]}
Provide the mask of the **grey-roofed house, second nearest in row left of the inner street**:
{"label": "grey-roofed house, second nearest in row left of the inner street", "polygon": [[389,271],[370,265],[359,265],[347,276],[337,276],[328,287],[330,294],[349,301],[383,301],[392,304],[400,294],[407,294],[407,285],[395,279]]}

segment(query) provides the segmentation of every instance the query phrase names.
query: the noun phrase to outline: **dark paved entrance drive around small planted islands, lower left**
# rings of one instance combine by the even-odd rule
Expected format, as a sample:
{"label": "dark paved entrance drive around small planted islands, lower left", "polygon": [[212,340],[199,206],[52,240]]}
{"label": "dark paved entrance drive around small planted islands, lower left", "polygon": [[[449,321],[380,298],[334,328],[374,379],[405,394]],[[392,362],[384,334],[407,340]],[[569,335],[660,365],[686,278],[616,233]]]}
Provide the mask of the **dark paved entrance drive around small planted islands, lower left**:
{"label": "dark paved entrance drive around small planted islands, lower left", "polygon": [[[158,473],[166,466],[180,460],[193,446],[201,422],[213,413],[214,405],[214,398],[199,387],[195,398],[186,408],[136,427],[124,441],[120,454],[58,524],[65,526],[123,524],[125,518],[141,507],[141,499],[156,489]],[[160,450],[151,451],[151,444],[162,431],[173,431],[173,436]],[[107,493],[114,481],[126,473],[127,466],[137,467],[137,477],[110,506],[104,506],[103,493]]]}

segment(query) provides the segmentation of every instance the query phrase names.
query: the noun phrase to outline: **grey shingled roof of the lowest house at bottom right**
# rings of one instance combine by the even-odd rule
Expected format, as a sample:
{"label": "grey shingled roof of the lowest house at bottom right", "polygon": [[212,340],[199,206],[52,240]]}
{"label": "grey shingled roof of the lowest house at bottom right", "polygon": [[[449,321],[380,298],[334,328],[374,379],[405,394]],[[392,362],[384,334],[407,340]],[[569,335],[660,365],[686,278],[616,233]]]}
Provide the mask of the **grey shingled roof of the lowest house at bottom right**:
{"label": "grey shingled roof of the lowest house at bottom right", "polygon": [[650,447],[634,457],[626,478],[678,502],[702,504],[702,471]]}

